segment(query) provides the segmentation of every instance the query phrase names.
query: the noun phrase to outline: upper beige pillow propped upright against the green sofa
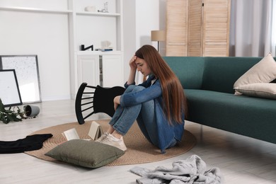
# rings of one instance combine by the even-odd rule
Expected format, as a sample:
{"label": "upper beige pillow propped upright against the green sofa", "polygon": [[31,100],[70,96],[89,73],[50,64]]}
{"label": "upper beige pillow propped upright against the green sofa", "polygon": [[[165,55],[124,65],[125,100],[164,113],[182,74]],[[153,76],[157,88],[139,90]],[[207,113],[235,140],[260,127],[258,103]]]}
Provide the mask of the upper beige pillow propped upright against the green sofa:
{"label": "upper beige pillow propped upright against the green sofa", "polygon": [[[234,84],[234,89],[245,84],[269,83],[276,79],[276,62],[271,53],[246,71]],[[241,95],[235,91],[235,95]]]}

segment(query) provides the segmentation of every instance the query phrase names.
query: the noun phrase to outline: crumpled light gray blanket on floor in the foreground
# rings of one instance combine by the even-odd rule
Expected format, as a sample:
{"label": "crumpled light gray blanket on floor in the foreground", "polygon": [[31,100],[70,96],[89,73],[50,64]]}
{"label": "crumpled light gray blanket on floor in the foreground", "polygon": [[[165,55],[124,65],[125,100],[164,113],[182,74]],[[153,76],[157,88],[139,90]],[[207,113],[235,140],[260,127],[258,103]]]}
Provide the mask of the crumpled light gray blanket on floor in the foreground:
{"label": "crumpled light gray blanket on floor in the foreground", "polygon": [[173,168],[158,166],[154,170],[142,167],[131,168],[134,174],[142,176],[137,179],[137,183],[157,184],[157,183],[195,183],[195,184],[218,184],[222,183],[222,174],[219,168],[207,170],[205,161],[200,156],[192,155],[185,160],[174,161]]}

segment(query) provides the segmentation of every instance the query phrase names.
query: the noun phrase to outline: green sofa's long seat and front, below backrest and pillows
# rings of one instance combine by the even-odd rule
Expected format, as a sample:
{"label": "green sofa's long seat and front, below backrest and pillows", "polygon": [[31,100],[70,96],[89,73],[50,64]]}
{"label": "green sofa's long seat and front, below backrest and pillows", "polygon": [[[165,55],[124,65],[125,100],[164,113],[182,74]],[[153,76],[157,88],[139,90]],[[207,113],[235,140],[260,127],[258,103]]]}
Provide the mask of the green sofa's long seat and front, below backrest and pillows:
{"label": "green sofa's long seat and front, below backrest and pillows", "polygon": [[276,100],[186,89],[188,120],[276,143]]}

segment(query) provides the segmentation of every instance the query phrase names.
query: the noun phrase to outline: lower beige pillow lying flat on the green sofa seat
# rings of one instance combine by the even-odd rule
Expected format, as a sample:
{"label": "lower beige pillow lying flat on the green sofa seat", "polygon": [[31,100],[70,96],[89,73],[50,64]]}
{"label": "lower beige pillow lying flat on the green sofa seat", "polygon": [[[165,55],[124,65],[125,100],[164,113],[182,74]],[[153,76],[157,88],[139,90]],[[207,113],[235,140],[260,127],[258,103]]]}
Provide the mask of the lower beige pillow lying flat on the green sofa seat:
{"label": "lower beige pillow lying flat on the green sofa seat", "polygon": [[236,91],[246,96],[254,96],[259,98],[270,98],[276,100],[276,84],[275,83],[257,83],[246,84],[235,88]]}

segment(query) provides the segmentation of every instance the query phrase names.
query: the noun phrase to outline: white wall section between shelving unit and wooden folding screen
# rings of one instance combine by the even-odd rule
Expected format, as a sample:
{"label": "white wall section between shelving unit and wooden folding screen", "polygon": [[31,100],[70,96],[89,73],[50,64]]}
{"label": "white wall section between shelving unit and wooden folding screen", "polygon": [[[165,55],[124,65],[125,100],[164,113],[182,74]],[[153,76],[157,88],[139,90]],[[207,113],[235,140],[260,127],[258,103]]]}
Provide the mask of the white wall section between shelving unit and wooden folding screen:
{"label": "white wall section between shelving unit and wooden folding screen", "polygon": [[[157,42],[151,42],[151,30],[159,30],[159,18],[159,0],[124,0],[125,81],[130,74],[128,62],[135,51],[142,45],[153,45],[157,49]],[[141,80],[139,74],[137,82]]]}

